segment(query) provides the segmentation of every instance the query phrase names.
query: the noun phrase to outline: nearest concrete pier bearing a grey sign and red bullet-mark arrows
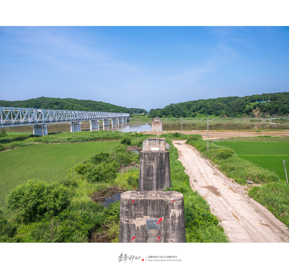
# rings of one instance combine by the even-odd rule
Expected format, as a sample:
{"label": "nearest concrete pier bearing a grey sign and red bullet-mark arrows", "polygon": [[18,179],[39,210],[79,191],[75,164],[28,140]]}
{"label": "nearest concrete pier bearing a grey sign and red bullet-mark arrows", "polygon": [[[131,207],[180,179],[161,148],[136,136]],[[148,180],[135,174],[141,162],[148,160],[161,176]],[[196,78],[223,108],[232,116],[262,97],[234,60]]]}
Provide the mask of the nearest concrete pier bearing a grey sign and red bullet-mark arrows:
{"label": "nearest concrete pier bearing a grey sign and red bullet-mark arrows", "polygon": [[183,194],[175,191],[122,193],[119,242],[185,242]]}

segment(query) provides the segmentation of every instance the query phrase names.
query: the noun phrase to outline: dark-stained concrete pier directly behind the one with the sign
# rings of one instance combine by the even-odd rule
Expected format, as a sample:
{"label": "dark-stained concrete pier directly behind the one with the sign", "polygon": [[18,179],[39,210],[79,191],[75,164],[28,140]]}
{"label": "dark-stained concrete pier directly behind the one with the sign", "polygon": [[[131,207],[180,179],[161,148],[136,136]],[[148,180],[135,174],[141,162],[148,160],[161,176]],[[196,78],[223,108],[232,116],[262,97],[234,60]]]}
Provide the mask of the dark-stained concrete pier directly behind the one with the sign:
{"label": "dark-stained concrete pier directly behind the one with the sign", "polygon": [[139,191],[162,191],[171,187],[168,151],[141,151],[139,160]]}

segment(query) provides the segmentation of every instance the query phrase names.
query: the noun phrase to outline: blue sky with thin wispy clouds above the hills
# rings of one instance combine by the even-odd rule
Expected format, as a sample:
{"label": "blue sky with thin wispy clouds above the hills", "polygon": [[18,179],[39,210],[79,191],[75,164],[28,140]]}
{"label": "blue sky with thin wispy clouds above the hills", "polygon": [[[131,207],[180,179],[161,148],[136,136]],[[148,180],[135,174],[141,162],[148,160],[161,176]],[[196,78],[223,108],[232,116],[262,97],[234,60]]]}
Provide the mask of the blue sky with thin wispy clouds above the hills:
{"label": "blue sky with thin wispy clouds above the hills", "polygon": [[0,27],[0,99],[119,106],[289,91],[289,27]]}

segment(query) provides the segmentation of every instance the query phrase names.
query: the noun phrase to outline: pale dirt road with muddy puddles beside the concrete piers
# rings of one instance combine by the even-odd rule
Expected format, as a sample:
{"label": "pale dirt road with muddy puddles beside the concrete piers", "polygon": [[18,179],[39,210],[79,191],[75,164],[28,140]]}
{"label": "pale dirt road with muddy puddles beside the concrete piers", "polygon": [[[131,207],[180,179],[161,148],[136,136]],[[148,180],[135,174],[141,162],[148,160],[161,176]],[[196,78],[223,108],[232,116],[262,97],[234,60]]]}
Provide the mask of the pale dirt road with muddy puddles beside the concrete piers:
{"label": "pale dirt road with muddy puddles beside the concrete piers", "polygon": [[173,141],[191,187],[210,204],[232,242],[289,242],[289,229],[246,195],[246,187],[227,178],[183,141]]}

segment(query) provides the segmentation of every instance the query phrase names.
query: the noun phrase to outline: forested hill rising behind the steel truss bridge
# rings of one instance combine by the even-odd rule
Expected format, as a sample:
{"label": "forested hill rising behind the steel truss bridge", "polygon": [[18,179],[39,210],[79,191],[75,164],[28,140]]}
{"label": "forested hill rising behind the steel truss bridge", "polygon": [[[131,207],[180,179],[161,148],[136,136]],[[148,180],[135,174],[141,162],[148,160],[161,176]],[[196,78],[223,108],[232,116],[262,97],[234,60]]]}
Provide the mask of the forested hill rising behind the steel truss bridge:
{"label": "forested hill rising behind the steel truss bridge", "polygon": [[6,101],[0,100],[2,107],[39,108],[69,111],[97,111],[115,113],[147,113],[144,109],[126,108],[110,103],[93,100],[79,100],[74,98],[37,97],[28,100]]}

